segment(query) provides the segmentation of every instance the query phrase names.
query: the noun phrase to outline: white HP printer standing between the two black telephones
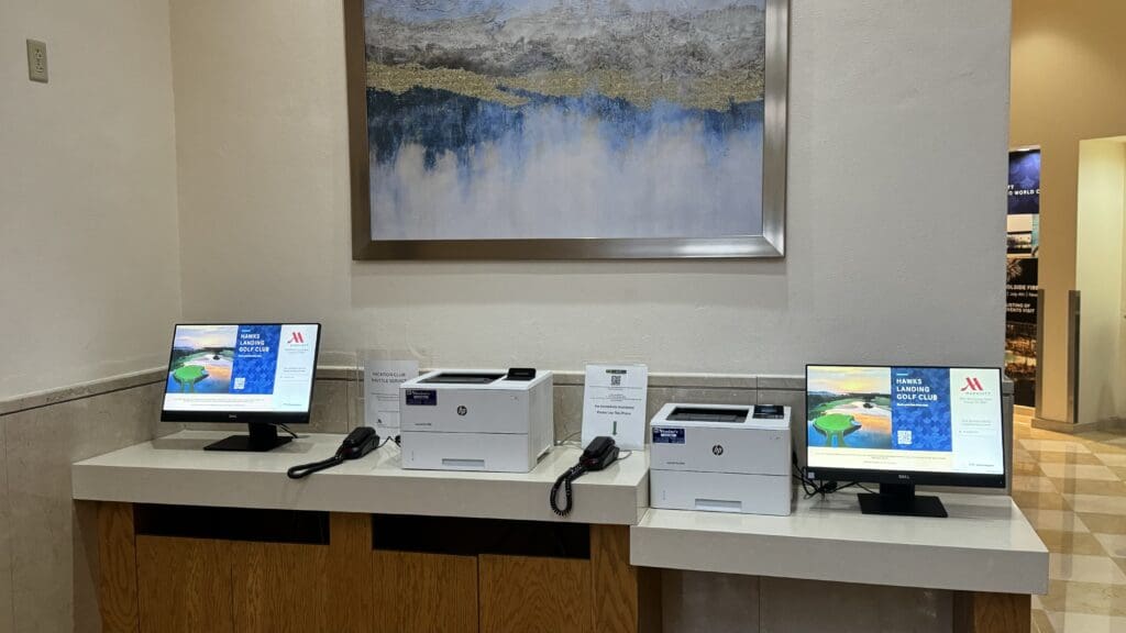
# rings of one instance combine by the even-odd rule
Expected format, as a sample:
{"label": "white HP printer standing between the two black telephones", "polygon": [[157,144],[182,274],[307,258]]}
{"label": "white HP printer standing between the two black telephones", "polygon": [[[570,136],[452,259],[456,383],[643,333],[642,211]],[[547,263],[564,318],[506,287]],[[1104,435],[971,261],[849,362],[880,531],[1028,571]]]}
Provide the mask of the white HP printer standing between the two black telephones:
{"label": "white HP printer standing between the two black telephones", "polygon": [[430,372],[399,386],[404,469],[526,473],[552,447],[552,373]]}

